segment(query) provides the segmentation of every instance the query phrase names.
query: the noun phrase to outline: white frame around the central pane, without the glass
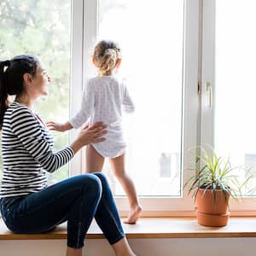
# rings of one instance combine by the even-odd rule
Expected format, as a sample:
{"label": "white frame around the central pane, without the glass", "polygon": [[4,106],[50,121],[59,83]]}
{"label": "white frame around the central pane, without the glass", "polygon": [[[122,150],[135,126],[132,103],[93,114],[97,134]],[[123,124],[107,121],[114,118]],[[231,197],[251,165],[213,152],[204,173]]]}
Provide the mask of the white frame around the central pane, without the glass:
{"label": "white frame around the central pane, without the glass", "polygon": [[[182,168],[191,166],[189,148],[198,144],[199,97],[198,97],[198,42],[199,42],[199,0],[184,1],[184,42],[183,42],[183,143]],[[72,33],[72,80],[70,114],[79,109],[84,81],[93,74],[91,53],[96,44],[98,26],[98,1],[73,0]],[[71,133],[71,140],[77,131]],[[71,176],[82,173],[85,164],[84,150],[71,163]],[[191,175],[183,172],[183,179]],[[182,181],[183,187],[183,181]],[[186,192],[181,197],[140,197],[143,216],[190,216],[194,214],[194,204]],[[116,197],[121,215],[128,212],[125,197]]]}

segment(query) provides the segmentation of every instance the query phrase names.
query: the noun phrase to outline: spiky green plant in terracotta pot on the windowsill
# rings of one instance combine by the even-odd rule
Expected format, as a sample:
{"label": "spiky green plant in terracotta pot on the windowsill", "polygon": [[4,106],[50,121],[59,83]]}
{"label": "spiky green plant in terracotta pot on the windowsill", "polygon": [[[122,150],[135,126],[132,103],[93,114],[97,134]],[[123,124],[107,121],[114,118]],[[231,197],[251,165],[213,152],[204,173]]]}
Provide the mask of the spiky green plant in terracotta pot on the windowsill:
{"label": "spiky green plant in terracotta pot on the windowsill", "polygon": [[211,154],[201,148],[201,155],[196,155],[199,171],[190,177],[185,186],[189,187],[189,194],[195,199],[198,224],[206,226],[225,226],[230,218],[230,197],[241,198],[241,188],[247,183],[240,183],[230,160],[218,157],[211,150]]}

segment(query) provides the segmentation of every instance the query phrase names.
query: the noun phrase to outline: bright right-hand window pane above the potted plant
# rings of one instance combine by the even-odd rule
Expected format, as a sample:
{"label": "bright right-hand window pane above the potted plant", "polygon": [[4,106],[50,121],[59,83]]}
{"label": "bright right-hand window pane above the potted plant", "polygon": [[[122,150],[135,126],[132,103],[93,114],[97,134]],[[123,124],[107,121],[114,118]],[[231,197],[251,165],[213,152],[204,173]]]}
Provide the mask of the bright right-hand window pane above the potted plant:
{"label": "bright right-hand window pane above the potted plant", "polygon": [[256,179],[256,3],[216,1],[215,148]]}

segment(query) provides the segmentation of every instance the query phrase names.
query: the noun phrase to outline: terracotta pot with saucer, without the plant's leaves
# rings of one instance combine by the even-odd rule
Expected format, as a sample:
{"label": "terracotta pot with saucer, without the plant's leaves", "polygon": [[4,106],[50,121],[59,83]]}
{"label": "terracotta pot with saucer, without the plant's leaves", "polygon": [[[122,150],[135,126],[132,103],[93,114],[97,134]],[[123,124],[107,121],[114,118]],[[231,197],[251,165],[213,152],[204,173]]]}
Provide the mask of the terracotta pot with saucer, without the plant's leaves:
{"label": "terracotta pot with saucer, without the plant's leaves", "polygon": [[199,189],[196,195],[197,212],[196,218],[198,224],[220,227],[228,223],[230,212],[228,212],[228,202],[230,195],[225,195],[221,190],[216,191],[216,198],[213,197],[211,189],[207,189],[203,195],[204,189]]}

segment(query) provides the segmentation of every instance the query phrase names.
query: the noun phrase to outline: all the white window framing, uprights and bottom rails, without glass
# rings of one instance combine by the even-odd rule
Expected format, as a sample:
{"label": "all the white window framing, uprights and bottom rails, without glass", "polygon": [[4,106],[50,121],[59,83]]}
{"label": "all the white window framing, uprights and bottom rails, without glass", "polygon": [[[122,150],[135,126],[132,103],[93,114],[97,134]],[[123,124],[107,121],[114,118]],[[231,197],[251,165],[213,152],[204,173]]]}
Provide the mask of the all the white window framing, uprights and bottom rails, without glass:
{"label": "all the white window framing, uprights and bottom rails, without glass", "polygon": [[[73,0],[71,101],[70,114],[79,110],[84,81],[93,74],[91,53],[97,38],[98,1]],[[214,36],[215,0],[184,0],[183,42],[183,183],[193,175],[189,148],[213,145],[213,114],[207,82],[212,84],[214,103]],[[200,93],[198,93],[198,90]],[[78,131],[71,132],[71,140]],[[70,165],[70,176],[83,173],[85,153],[81,150]],[[193,166],[192,166],[193,167]],[[195,166],[194,166],[195,167]],[[121,214],[128,211],[125,197],[116,197]],[[193,216],[194,202],[187,191],[181,197],[140,197],[144,216]],[[245,198],[239,204],[230,202],[234,216],[256,215],[256,200]]]}

